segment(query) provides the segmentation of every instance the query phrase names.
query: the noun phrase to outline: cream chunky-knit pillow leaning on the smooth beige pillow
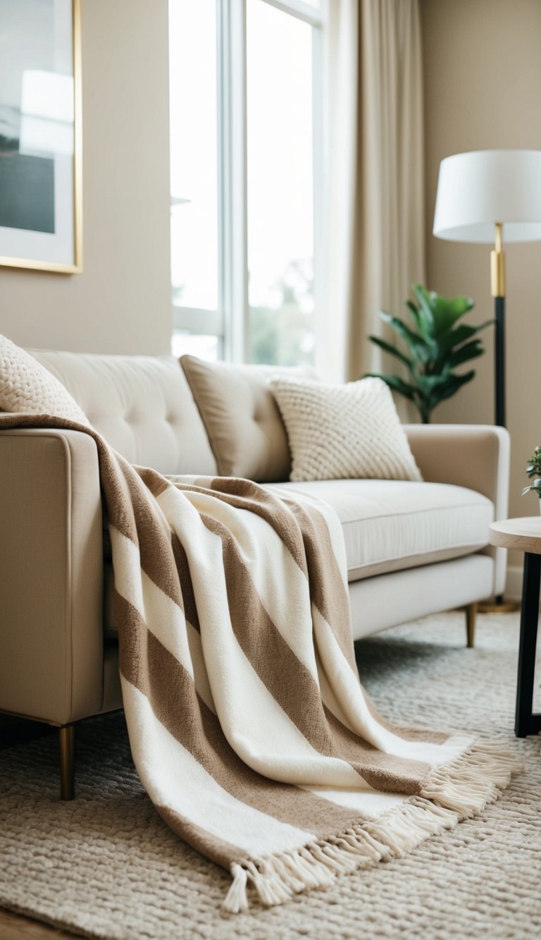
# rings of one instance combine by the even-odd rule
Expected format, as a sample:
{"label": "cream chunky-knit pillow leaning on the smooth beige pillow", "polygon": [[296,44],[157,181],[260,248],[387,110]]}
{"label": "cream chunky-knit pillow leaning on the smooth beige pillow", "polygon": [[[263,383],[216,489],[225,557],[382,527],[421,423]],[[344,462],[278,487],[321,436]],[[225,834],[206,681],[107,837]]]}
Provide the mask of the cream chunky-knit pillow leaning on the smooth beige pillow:
{"label": "cream chunky-knit pillow leaning on the smooth beige pillow", "polygon": [[422,479],[388,386],[271,380],[291,450],[292,480]]}

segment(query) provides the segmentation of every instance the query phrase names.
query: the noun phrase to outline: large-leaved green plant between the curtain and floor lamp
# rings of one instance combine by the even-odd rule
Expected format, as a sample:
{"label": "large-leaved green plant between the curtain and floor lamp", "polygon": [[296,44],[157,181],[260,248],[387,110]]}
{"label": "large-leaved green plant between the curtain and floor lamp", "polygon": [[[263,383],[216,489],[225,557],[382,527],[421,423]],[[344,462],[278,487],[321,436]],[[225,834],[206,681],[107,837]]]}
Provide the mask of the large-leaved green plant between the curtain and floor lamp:
{"label": "large-leaved green plant between the curtain and floor lamp", "polygon": [[415,284],[411,290],[417,303],[408,300],[406,304],[413,328],[398,317],[383,310],[379,312],[381,319],[404,340],[407,352],[396,349],[380,337],[369,337],[380,349],[404,363],[409,372],[408,381],[397,375],[375,372],[368,375],[382,379],[399,395],[410,399],[418,408],[421,420],[427,424],[441,401],[451,398],[462,385],[471,382],[474,369],[458,374],[455,369],[485,352],[476,335],[493,321],[488,320],[480,326],[458,324],[457,321],[473,306],[470,297],[448,300],[435,290],[426,290],[421,284]]}

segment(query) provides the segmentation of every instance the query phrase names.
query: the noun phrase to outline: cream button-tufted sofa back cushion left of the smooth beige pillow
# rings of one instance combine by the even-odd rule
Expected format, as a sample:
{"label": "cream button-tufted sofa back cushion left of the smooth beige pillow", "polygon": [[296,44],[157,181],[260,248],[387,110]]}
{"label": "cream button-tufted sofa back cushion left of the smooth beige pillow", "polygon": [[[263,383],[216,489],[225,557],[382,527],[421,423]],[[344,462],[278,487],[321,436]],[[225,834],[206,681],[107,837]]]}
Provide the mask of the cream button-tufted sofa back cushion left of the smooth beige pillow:
{"label": "cream button-tufted sofa back cushion left of the smooth beige pillow", "polygon": [[174,356],[29,350],[91,425],[131,463],[165,474],[216,474],[209,439]]}

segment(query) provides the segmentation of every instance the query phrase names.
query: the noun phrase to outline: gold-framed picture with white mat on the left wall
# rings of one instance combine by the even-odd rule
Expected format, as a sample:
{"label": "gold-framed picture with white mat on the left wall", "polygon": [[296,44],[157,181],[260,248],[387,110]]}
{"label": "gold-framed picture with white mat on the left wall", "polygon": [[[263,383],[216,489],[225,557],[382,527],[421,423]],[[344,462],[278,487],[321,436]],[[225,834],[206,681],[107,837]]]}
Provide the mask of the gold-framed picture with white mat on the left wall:
{"label": "gold-framed picture with white mat on the left wall", "polygon": [[0,264],[82,270],[80,0],[0,0]]}

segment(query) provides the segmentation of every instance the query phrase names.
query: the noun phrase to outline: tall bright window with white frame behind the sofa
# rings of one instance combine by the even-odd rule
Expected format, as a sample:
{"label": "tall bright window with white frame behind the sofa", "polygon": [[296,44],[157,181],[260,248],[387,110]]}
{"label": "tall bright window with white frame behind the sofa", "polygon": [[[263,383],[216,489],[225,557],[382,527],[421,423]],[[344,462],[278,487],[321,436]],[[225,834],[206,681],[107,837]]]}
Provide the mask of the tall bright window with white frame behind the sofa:
{"label": "tall bright window with white frame behind the sofa", "polygon": [[313,361],[323,26],[317,0],[170,0],[176,353]]}

